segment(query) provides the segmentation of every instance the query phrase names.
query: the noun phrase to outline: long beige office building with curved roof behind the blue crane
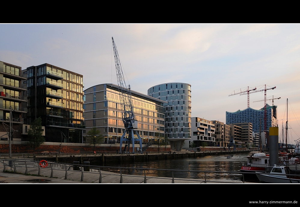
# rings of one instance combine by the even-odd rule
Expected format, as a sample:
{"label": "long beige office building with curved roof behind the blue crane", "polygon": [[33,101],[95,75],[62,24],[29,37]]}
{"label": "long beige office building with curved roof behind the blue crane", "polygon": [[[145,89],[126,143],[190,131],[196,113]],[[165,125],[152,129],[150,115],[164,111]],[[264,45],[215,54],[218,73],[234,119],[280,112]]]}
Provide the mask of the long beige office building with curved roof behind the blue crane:
{"label": "long beige office building with curved roof behind the blue crane", "polygon": [[[104,143],[119,143],[124,133],[119,87],[115,84],[99,84],[84,91],[84,116],[86,132],[96,127],[104,136]],[[164,102],[131,90],[134,115],[138,121],[138,133],[143,143],[164,139]],[[86,133],[84,133],[86,136]]]}

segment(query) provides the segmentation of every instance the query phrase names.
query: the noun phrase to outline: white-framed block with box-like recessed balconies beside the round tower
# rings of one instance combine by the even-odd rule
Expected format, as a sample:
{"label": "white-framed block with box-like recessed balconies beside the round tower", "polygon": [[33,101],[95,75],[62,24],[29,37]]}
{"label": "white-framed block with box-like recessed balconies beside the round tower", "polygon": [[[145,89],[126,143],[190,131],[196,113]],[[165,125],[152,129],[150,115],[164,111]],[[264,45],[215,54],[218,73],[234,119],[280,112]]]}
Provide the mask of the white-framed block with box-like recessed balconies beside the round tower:
{"label": "white-framed block with box-like recessed balconies beside the round tower", "polygon": [[197,148],[200,148],[203,142],[205,142],[207,146],[216,146],[216,129],[213,121],[192,117],[191,122],[192,136],[191,140],[189,140],[190,142],[193,141],[196,143]]}

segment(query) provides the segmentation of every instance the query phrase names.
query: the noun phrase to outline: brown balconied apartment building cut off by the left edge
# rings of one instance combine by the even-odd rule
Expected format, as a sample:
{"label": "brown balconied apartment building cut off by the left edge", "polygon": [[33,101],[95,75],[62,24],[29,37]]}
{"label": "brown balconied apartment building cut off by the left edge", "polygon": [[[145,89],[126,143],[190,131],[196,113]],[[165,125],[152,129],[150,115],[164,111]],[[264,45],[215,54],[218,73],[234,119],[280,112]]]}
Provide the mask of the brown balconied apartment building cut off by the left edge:
{"label": "brown balconied apartment building cut off by the left edge", "polygon": [[0,61],[0,136],[7,140],[9,123],[12,129],[18,131],[12,135],[12,140],[21,141],[21,131],[24,113],[26,113],[26,87],[21,85],[26,77],[21,75],[21,67]]}

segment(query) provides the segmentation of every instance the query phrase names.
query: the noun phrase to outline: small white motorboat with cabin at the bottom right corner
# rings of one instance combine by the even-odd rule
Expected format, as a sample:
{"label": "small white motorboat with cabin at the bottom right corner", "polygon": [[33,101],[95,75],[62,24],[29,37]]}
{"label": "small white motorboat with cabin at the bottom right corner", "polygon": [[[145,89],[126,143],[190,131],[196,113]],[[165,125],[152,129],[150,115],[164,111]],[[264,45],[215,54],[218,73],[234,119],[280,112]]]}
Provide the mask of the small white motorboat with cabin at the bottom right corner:
{"label": "small white motorboat with cabin at the bottom right corner", "polygon": [[291,170],[288,166],[276,166],[269,174],[256,174],[259,181],[268,183],[300,183],[300,170]]}

